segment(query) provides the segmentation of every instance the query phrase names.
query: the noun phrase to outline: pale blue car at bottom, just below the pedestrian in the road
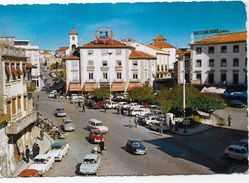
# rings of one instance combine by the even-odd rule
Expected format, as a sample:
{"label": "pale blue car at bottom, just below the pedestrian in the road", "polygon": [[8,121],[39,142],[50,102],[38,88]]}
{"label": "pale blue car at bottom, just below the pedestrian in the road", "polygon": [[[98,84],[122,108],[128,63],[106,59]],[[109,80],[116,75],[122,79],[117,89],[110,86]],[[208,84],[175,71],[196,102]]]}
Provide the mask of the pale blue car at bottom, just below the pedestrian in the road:
{"label": "pale blue car at bottom, just below the pedestrian in the road", "polygon": [[83,175],[97,175],[100,167],[100,157],[97,154],[87,154],[79,167],[79,173]]}

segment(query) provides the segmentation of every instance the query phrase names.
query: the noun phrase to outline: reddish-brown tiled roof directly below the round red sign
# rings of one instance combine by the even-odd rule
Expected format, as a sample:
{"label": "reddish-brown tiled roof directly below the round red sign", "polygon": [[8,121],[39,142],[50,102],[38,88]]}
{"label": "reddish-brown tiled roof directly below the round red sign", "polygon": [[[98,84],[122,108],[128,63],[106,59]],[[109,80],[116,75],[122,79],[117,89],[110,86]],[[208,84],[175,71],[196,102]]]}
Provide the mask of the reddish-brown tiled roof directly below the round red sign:
{"label": "reddish-brown tiled roof directly below the round red sign", "polygon": [[130,47],[126,46],[125,43],[121,43],[120,41],[113,39],[106,43],[91,41],[89,43],[84,44],[83,46],[80,46],[80,48],[130,48]]}

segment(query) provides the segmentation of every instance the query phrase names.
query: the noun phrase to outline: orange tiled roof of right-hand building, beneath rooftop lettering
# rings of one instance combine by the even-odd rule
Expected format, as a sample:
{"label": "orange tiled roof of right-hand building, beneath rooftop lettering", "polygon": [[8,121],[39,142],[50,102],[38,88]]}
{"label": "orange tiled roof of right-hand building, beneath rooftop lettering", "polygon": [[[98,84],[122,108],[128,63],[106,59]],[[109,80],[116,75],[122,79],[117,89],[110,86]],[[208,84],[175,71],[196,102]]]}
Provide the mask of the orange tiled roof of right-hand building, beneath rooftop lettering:
{"label": "orange tiled roof of right-hand building, beneath rooftop lettering", "polygon": [[234,43],[245,42],[247,38],[246,32],[236,32],[230,34],[219,34],[212,37],[196,41],[194,44],[217,44],[217,43]]}

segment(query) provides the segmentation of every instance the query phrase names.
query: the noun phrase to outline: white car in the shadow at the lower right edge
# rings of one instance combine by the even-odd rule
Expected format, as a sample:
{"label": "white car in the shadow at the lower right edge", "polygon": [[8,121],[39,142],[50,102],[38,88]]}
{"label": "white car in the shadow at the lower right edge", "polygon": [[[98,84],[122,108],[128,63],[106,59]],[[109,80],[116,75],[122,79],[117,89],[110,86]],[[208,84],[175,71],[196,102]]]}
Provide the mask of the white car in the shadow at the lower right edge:
{"label": "white car in the shadow at the lower right edge", "polygon": [[225,158],[234,158],[238,160],[248,161],[247,148],[240,145],[230,145],[224,151]]}

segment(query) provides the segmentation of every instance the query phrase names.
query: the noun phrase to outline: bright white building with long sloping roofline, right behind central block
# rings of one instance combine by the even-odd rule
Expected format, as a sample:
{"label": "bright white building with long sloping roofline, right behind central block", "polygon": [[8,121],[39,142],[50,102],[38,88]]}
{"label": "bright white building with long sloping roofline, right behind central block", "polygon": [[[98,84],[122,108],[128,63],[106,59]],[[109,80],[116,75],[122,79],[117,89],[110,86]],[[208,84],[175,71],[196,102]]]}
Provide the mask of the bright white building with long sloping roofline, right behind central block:
{"label": "bright white building with long sloping roofline, right behind central block", "polygon": [[155,77],[157,79],[163,79],[163,78],[170,78],[171,73],[169,71],[169,52],[164,51],[158,47],[149,45],[149,44],[142,44],[135,41],[126,41],[123,40],[127,45],[134,47],[137,51],[142,51],[145,53],[148,53],[154,57],[156,57],[157,60],[157,70]]}

